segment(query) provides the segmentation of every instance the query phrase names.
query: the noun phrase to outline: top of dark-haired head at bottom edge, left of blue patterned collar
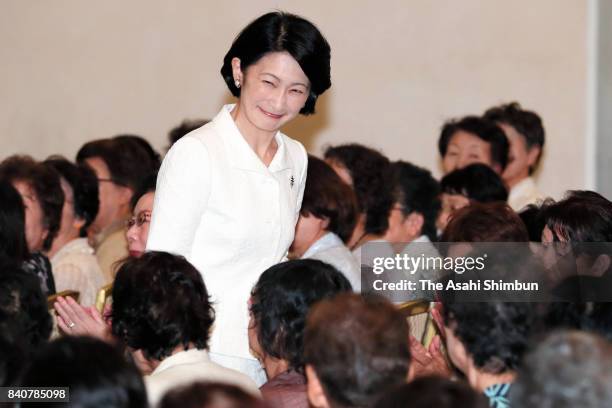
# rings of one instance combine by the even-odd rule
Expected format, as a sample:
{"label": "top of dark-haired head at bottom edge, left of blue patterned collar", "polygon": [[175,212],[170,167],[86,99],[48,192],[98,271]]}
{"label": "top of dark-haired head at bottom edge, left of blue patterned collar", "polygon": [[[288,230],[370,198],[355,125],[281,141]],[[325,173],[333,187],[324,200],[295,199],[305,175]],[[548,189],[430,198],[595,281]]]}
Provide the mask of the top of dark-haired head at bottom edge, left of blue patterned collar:
{"label": "top of dark-haired head at bottom edge, left of blue patterned collar", "polygon": [[462,381],[419,377],[382,397],[374,408],[487,408],[485,396]]}

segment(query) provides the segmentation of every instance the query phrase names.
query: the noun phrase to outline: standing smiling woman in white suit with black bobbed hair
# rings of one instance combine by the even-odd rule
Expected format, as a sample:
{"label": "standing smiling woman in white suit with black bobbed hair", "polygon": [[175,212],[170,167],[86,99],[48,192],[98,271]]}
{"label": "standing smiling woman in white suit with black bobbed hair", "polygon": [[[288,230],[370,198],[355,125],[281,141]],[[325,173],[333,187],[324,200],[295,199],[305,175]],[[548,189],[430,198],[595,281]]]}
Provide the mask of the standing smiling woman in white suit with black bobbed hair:
{"label": "standing smiling woman in white suit with black bobbed hair", "polygon": [[168,152],[147,249],[183,255],[200,271],[217,314],[212,359],[262,383],[247,301],[259,275],[287,254],[307,167],[304,147],[280,128],[314,113],[331,86],[330,48],[312,23],[268,13],[234,40],[221,74],[238,101]]}

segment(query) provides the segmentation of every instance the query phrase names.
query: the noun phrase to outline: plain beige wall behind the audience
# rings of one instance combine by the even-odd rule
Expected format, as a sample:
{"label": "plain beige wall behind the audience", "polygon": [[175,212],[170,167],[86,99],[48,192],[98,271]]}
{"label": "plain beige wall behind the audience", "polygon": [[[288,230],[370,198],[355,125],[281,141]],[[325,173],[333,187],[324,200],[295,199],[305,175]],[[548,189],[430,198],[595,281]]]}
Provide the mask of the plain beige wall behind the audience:
{"label": "plain beige wall behind the audience", "polygon": [[183,118],[211,117],[238,31],[280,8],[332,46],[333,86],[286,130],[315,154],[348,141],[439,174],[443,121],[511,100],[544,118],[543,191],[587,185],[587,1],[2,0],[0,158],[74,157],[137,133],[157,148]]}

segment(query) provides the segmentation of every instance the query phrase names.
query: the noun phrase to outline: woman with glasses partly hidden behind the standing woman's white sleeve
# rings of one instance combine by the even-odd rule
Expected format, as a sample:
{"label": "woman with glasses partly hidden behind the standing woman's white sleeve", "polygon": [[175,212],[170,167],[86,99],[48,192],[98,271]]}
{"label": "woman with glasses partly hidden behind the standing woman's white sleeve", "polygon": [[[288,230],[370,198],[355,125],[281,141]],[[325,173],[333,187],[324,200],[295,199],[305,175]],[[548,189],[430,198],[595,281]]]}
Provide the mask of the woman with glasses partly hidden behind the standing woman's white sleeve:
{"label": "woman with glasses partly hidden behind the standing woman's white sleeve", "polygon": [[134,192],[130,202],[132,217],[127,221],[125,237],[128,242],[128,252],[132,257],[138,258],[142,256],[147,246],[156,180],[157,173],[153,173],[145,178],[140,187]]}

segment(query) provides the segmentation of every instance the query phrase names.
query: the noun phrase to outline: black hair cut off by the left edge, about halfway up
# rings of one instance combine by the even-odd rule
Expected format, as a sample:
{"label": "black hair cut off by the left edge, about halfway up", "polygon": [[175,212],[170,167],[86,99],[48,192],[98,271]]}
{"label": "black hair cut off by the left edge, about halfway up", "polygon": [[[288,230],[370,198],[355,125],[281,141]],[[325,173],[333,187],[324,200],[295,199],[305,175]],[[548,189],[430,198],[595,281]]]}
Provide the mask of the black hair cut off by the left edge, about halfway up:
{"label": "black hair cut off by the left edge, about halfway up", "polygon": [[8,181],[0,181],[0,258],[16,265],[28,258],[25,209],[19,192]]}

